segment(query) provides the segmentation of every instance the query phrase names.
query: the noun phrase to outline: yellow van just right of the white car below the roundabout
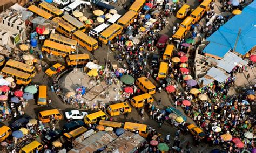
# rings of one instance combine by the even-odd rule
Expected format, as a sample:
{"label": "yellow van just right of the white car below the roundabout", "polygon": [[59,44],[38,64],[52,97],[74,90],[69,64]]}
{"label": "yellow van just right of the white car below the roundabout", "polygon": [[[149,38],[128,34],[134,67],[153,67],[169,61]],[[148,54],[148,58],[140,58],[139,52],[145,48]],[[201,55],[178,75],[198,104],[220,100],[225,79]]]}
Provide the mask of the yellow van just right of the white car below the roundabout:
{"label": "yellow van just right of the white car below the roundabout", "polygon": [[96,123],[99,120],[106,120],[106,119],[107,119],[107,115],[100,110],[98,112],[86,115],[84,117],[84,122],[85,124],[89,125],[89,124]]}

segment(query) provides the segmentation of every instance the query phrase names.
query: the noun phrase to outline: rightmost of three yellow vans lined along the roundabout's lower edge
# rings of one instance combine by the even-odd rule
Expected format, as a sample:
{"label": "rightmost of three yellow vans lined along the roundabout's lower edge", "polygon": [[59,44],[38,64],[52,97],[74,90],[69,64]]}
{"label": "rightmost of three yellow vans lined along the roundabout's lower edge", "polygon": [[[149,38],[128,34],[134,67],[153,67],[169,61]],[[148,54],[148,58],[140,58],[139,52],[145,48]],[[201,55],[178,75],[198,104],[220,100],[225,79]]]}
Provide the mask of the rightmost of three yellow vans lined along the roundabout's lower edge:
{"label": "rightmost of three yellow vans lined along the roundabout's lower edge", "polygon": [[154,99],[152,98],[152,96],[148,93],[145,93],[145,94],[141,94],[138,96],[134,96],[131,99],[131,105],[135,108],[140,108],[140,107],[143,107],[147,103],[152,103],[153,101],[154,101]]}

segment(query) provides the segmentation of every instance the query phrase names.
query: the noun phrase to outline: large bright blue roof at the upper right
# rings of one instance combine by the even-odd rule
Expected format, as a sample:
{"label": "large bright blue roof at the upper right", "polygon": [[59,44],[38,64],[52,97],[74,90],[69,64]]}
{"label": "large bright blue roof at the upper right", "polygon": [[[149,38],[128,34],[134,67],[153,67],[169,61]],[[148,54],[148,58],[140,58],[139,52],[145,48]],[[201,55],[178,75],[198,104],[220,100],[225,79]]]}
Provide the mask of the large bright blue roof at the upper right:
{"label": "large bright blue roof at the upper right", "polygon": [[[256,45],[256,1],[248,5],[240,15],[231,18],[226,24],[215,31],[207,41],[210,47],[206,47],[203,52],[224,57],[224,55],[235,46],[239,29],[241,33],[238,38],[235,52],[245,55]],[[214,43],[214,44],[212,44]],[[215,46],[215,47],[214,47]],[[220,51],[218,51],[220,49]]]}

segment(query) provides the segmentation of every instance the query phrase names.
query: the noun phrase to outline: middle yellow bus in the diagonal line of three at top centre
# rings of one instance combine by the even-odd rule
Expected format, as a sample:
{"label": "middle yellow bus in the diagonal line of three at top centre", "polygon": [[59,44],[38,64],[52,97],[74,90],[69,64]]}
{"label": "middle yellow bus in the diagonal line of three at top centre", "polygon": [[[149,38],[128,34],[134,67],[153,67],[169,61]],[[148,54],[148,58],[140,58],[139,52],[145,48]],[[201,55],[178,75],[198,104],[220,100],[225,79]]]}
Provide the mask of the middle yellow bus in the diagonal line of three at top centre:
{"label": "middle yellow bus in the diagonal line of three at top centre", "polygon": [[129,10],[121,18],[117,20],[117,24],[122,25],[123,27],[127,27],[131,23],[133,23],[136,16],[137,16],[136,12]]}

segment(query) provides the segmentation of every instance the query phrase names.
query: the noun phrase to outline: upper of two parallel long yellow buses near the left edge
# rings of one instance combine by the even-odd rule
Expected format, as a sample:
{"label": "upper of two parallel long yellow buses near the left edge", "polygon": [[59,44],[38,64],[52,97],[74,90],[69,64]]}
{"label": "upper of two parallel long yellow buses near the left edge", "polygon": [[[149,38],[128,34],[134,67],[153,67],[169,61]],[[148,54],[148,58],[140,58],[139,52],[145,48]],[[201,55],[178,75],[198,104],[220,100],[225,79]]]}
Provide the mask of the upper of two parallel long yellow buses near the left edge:
{"label": "upper of two parallel long yellow buses near the left edge", "polygon": [[6,62],[5,67],[10,67],[13,69],[17,69],[18,71],[28,73],[28,74],[30,74],[30,77],[35,77],[35,75],[36,75],[36,69],[34,66],[25,64],[23,62],[19,62],[17,60],[9,59]]}

